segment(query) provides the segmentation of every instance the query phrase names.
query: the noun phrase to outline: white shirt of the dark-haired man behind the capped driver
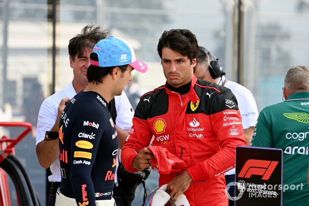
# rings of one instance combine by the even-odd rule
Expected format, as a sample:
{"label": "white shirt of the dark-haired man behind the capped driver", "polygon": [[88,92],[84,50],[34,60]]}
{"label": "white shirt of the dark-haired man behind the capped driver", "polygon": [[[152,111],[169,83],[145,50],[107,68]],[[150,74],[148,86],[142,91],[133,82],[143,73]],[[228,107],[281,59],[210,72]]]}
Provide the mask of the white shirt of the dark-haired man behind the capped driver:
{"label": "white shirt of the dark-haired man behind the capped driver", "polygon": [[[36,145],[44,140],[45,132],[50,131],[55,124],[58,115],[58,106],[61,99],[66,97],[72,98],[75,95],[76,92],[74,90],[72,81],[66,88],[56,92],[43,101],[40,107],[36,127]],[[125,92],[122,92],[120,96],[115,96],[115,107],[117,113],[116,125],[121,129],[127,130],[131,128],[134,111]],[[120,152],[120,149],[118,149],[118,152]],[[118,161],[116,164],[116,172],[117,169]],[[50,171],[53,174],[48,176],[49,182],[61,182],[59,158],[57,158],[50,166]],[[117,182],[117,174],[115,173],[115,183]]]}

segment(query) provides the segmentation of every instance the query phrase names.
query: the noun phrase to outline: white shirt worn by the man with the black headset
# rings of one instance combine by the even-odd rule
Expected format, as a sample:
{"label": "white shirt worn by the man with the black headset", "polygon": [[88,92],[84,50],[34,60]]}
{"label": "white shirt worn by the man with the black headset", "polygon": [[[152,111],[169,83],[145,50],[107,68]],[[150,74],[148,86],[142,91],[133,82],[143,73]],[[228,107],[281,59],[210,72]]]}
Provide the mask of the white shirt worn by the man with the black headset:
{"label": "white shirt worn by the man with the black headset", "polygon": [[[227,80],[225,76],[222,76],[222,80],[220,79],[217,84],[222,86],[222,83],[232,91],[237,99],[239,112],[243,119],[241,122],[243,129],[254,127],[259,113],[251,91],[236,82]],[[235,168],[225,173],[225,175],[231,174],[235,174]]]}

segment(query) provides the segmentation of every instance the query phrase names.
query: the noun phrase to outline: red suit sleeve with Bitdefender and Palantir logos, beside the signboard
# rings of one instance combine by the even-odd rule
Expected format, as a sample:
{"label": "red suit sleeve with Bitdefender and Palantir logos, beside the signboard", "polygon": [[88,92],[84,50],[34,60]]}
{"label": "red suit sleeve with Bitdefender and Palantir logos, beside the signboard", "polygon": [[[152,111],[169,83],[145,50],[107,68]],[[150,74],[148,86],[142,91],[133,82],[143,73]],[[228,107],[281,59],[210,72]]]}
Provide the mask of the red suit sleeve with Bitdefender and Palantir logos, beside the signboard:
{"label": "red suit sleeve with Bitdefender and Palantir logos, beside the signboard", "polygon": [[[234,109],[230,109],[232,106]],[[243,125],[241,124],[242,118],[239,110],[235,110],[235,107],[238,108],[237,100],[231,91],[218,94],[211,107],[226,108],[210,115],[211,124],[221,150],[212,157],[188,168],[194,182],[212,179],[233,169],[235,167],[236,146],[247,146],[243,134]]]}

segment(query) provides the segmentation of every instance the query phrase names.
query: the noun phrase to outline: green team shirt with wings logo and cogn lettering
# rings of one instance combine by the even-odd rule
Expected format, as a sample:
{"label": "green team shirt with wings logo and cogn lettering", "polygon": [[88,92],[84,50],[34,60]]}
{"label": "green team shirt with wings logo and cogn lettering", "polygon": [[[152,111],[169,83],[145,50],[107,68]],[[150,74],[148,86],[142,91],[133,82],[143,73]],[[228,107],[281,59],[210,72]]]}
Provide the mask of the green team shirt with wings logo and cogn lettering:
{"label": "green team shirt with wings logo and cogn lettering", "polygon": [[283,205],[309,205],[308,122],[309,92],[297,92],[285,102],[265,107],[254,128],[251,146],[283,150],[283,186],[289,186],[282,193]]}

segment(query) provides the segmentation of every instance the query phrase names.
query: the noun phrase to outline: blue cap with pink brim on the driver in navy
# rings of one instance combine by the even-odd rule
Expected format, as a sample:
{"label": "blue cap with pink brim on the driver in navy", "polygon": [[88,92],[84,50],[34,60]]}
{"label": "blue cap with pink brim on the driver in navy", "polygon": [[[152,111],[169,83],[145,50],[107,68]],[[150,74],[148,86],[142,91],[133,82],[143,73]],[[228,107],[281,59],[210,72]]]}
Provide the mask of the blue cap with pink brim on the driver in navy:
{"label": "blue cap with pink brim on the driver in navy", "polygon": [[129,42],[115,36],[109,36],[100,40],[95,44],[92,53],[98,55],[99,61],[90,59],[91,65],[110,67],[129,64],[142,73],[146,72],[148,68],[144,62],[136,59],[134,50]]}

